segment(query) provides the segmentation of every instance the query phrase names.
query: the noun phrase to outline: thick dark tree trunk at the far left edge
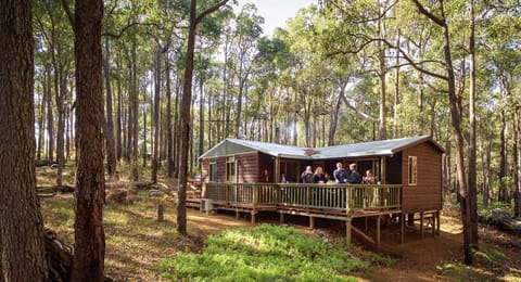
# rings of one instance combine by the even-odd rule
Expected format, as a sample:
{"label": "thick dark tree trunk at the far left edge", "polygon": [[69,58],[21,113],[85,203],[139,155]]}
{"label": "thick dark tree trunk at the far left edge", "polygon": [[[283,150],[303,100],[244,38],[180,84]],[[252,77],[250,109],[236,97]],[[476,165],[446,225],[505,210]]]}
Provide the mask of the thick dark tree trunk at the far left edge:
{"label": "thick dark tree trunk at the far left edge", "polygon": [[31,1],[0,1],[0,252],[2,281],[47,281],[36,195]]}

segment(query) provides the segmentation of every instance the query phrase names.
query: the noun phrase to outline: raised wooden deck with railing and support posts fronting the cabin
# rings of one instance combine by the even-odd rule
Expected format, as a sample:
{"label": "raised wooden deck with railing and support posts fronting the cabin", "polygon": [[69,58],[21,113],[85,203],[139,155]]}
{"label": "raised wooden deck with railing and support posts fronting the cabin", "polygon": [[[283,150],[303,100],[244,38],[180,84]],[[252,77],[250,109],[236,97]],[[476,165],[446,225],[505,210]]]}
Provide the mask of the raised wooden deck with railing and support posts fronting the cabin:
{"label": "raised wooden deck with railing and support posts fronting the cabin", "polygon": [[[211,201],[211,209],[251,214],[252,223],[260,211],[279,213],[281,222],[284,215],[307,216],[310,228],[315,218],[343,220],[347,245],[352,231],[380,245],[380,216],[399,214],[404,222],[399,184],[206,183],[203,197],[188,198],[187,206],[200,208],[201,201]],[[354,218],[369,217],[377,218],[374,239],[352,226]]]}

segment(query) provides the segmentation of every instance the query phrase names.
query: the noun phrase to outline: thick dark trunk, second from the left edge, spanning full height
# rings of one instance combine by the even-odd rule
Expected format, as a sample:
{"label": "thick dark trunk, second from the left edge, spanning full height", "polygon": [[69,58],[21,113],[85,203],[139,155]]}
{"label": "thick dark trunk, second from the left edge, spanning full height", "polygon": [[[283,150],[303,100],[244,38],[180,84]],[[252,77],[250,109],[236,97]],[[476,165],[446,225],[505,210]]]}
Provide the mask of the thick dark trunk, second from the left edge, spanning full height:
{"label": "thick dark trunk, second from the left edge, spanning full height", "polygon": [[76,1],[75,242],[72,281],[103,281],[103,94],[101,22],[103,1]]}

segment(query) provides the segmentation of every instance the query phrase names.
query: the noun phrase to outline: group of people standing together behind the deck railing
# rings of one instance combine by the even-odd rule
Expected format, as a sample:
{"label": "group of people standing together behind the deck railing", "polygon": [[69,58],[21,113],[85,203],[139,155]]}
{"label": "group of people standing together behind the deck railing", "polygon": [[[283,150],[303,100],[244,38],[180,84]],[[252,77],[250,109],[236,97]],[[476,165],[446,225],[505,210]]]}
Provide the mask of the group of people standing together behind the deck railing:
{"label": "group of people standing together behind the deck railing", "polygon": [[363,178],[356,170],[356,164],[351,164],[347,171],[340,162],[336,163],[336,169],[334,169],[332,178],[328,172],[323,171],[321,166],[317,166],[315,171],[313,171],[312,166],[307,166],[306,170],[302,172],[301,179],[302,183],[374,183],[371,169],[366,170],[366,176]]}

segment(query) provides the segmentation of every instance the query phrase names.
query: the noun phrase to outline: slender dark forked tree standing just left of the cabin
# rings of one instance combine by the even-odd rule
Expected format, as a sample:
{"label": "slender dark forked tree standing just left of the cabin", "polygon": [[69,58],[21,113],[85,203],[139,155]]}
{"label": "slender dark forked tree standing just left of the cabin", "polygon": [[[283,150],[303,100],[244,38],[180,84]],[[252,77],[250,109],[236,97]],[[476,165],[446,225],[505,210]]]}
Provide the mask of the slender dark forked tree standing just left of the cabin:
{"label": "slender dark forked tree standing just left of the cabin", "polygon": [[198,24],[208,14],[225,5],[228,0],[223,0],[208,8],[198,15],[198,1],[190,1],[190,22],[188,27],[187,60],[185,65],[185,77],[182,82],[182,97],[180,105],[180,164],[179,164],[179,191],[177,204],[177,231],[187,234],[187,180],[188,180],[188,154],[190,153],[190,123],[192,104],[192,76],[193,76],[193,53],[195,48],[195,33]]}

